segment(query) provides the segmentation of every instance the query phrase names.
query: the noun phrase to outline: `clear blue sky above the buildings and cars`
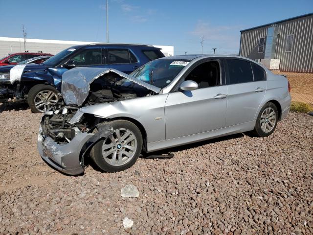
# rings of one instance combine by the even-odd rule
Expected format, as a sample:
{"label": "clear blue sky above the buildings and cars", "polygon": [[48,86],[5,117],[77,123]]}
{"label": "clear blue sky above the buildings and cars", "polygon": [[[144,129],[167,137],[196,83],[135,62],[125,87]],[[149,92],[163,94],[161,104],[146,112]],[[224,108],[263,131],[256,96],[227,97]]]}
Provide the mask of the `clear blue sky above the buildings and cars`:
{"label": "clear blue sky above the buildings and cars", "polygon": [[[105,0],[0,0],[0,37],[106,41]],[[109,0],[109,41],[175,54],[239,51],[240,30],[313,12],[313,0]]]}

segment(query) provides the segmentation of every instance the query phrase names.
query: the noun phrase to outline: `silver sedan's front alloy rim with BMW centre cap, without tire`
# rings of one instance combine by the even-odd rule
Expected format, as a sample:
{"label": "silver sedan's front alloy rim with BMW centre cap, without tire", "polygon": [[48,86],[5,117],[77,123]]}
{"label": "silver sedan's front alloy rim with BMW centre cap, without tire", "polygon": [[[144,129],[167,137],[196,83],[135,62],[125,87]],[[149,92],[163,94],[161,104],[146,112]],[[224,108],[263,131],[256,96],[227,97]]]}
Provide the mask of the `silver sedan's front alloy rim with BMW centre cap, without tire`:
{"label": "silver sedan's front alloy rim with BMW centre cap, without tire", "polygon": [[128,163],[135,155],[137,139],[128,129],[116,129],[102,145],[102,156],[111,165],[120,166]]}

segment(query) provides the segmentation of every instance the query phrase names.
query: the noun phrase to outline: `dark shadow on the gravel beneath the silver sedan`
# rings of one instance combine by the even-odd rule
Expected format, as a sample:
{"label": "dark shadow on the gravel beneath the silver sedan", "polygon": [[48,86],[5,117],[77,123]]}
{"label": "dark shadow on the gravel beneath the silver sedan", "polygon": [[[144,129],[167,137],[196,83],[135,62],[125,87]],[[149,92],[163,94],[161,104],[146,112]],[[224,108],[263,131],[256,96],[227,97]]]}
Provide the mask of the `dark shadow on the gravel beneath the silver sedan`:
{"label": "dark shadow on the gravel beneath the silver sedan", "polygon": [[[189,143],[189,144],[185,144],[185,145],[181,145],[181,146],[177,146],[177,147],[172,147],[172,148],[167,148],[167,149],[163,149],[163,150],[159,150],[159,151],[155,151],[155,152],[142,153],[142,154],[140,154],[139,158],[141,158],[143,160],[148,160],[148,159],[150,160],[152,158],[149,156],[153,155],[154,156],[153,158],[157,158],[157,156],[160,156],[160,159],[166,160],[166,158],[162,158],[161,155],[169,155],[169,153],[174,153],[174,158],[175,158],[175,153],[182,151],[182,150],[200,147],[200,146],[205,145],[205,144],[237,139],[237,138],[241,138],[244,136],[245,135],[243,133],[239,133],[239,134],[233,134],[233,135],[219,137],[219,138],[215,138],[215,139],[211,139],[211,140]],[[168,159],[170,159],[170,158],[168,158]],[[101,173],[109,173],[109,172],[106,172],[106,171],[100,169],[99,166],[97,166],[91,160],[90,157],[85,159],[85,165],[91,166],[94,170],[99,171]]]}

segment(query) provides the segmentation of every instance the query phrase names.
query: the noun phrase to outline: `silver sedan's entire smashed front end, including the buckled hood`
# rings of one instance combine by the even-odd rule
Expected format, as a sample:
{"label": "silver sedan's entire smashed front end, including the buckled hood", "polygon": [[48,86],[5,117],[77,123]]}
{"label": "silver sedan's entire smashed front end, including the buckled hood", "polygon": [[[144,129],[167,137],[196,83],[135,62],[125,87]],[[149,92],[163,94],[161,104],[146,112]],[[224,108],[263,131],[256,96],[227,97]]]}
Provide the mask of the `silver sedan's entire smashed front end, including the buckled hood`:
{"label": "silver sedan's entire smashed front end, including the buckled hood", "polygon": [[96,142],[110,137],[113,128],[103,125],[105,118],[83,113],[80,108],[156,92],[159,88],[112,69],[75,68],[65,72],[62,98],[41,120],[37,145],[40,155],[64,173],[83,173],[85,155]]}

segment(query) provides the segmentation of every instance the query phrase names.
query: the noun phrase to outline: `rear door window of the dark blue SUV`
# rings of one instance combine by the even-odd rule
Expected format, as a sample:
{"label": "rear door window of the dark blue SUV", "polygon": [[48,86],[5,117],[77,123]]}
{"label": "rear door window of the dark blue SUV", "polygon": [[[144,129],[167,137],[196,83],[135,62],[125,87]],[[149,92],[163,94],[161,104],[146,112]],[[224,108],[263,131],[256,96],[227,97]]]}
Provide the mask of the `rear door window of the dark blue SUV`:
{"label": "rear door window of the dark blue SUV", "polygon": [[108,49],[109,64],[136,63],[137,58],[129,49]]}

